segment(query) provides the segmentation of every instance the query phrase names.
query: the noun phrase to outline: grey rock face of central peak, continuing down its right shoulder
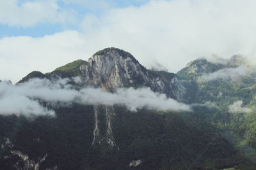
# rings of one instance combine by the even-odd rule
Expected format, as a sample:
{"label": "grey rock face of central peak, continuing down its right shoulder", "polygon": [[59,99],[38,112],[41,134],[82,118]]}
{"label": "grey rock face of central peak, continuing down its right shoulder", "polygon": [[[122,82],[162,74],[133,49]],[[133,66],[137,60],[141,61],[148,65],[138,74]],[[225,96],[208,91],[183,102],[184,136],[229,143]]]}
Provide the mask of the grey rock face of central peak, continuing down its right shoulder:
{"label": "grey rock face of central peak, continuing down its right shoulder", "polygon": [[80,70],[84,85],[101,87],[111,92],[118,87],[147,86],[168,97],[177,98],[174,92],[178,85],[177,78],[164,80],[162,76],[154,74],[154,71],[141,66],[130,53],[117,48],[106,48],[95,53]]}

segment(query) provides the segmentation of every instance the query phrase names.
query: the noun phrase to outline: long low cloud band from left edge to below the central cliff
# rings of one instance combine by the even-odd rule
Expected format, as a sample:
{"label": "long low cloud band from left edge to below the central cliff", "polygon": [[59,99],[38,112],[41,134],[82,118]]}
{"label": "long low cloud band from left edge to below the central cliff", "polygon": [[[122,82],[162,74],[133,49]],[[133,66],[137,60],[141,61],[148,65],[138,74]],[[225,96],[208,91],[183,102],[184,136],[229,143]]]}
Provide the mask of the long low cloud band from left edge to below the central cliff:
{"label": "long low cloud band from left edge to below the central cliff", "polygon": [[32,79],[26,83],[12,85],[0,82],[0,113],[2,115],[52,115],[54,110],[46,108],[39,101],[55,106],[57,103],[65,105],[79,104],[124,104],[129,110],[147,107],[156,110],[189,111],[186,104],[178,103],[167,98],[164,94],[153,92],[149,88],[133,89],[120,88],[115,93],[102,89],[87,87],[74,88],[70,81],[78,78],[58,80]]}

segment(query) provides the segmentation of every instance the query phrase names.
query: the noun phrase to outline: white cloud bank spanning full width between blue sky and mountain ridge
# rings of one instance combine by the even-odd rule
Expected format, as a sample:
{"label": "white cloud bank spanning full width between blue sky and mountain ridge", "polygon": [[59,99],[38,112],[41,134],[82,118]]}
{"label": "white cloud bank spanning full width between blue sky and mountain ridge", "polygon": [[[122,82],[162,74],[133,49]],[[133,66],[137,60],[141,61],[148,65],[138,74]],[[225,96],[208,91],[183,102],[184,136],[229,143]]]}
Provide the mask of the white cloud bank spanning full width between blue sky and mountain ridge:
{"label": "white cloud bank spanning full width between blue sky and mountain ridge", "polygon": [[88,14],[80,33],[3,38],[0,79],[17,81],[34,69],[51,71],[109,46],[131,52],[146,67],[157,67],[157,61],[171,72],[212,53],[220,57],[241,53],[255,63],[254,6],[253,0],[150,1],[140,7],[115,8],[100,17]]}

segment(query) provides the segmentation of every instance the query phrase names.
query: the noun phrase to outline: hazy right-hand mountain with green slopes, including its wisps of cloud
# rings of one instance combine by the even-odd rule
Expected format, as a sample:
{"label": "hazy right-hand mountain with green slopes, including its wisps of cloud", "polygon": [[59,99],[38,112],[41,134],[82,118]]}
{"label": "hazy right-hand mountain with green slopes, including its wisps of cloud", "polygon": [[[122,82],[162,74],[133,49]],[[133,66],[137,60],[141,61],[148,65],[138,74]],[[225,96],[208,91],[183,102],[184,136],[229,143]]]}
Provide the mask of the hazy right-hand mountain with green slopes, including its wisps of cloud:
{"label": "hazy right-hand mountain with green slopes, including its wisps of cloud", "polygon": [[223,59],[222,63],[199,59],[177,74],[193,85],[190,103],[207,102],[214,107],[207,113],[197,112],[205,114],[205,119],[220,129],[224,138],[255,162],[255,67],[241,55]]}

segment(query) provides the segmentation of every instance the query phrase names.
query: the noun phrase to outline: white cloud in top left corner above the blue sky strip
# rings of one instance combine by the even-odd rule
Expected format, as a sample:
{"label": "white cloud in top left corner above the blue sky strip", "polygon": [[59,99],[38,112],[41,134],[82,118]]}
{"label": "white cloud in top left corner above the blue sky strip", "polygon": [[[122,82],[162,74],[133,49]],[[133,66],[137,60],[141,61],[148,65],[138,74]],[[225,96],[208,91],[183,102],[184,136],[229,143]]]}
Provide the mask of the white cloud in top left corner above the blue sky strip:
{"label": "white cloud in top left corner above the blue sky strip", "polygon": [[0,24],[29,27],[39,22],[65,23],[74,17],[69,11],[63,11],[55,0],[25,1],[0,0]]}

